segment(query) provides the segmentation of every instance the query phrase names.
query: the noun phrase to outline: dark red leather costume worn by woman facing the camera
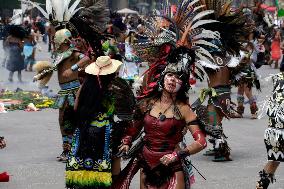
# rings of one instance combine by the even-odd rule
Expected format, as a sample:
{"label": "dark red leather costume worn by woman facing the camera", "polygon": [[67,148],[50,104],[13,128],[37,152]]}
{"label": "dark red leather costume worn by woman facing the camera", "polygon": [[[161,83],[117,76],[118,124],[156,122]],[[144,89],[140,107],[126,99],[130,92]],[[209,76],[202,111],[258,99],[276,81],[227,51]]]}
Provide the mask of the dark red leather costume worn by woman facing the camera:
{"label": "dark red leather costume worn by woman facing the camera", "polygon": [[[142,119],[134,121],[134,125],[126,132],[127,136],[135,138],[144,127],[143,145],[122,171],[117,182],[113,184],[113,189],[128,189],[133,176],[140,168],[143,168],[143,173],[146,176],[147,187],[170,189],[172,184],[176,182],[174,173],[184,170],[183,159],[165,166],[160,163],[160,158],[175,151],[183,139],[182,131],[186,122],[175,117],[161,121],[149,114],[151,106],[148,105],[150,108],[147,108],[144,116],[141,116]],[[185,183],[189,184],[189,182]]]}

